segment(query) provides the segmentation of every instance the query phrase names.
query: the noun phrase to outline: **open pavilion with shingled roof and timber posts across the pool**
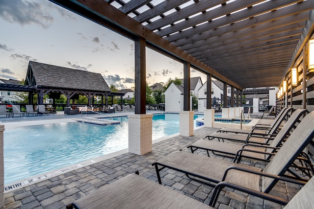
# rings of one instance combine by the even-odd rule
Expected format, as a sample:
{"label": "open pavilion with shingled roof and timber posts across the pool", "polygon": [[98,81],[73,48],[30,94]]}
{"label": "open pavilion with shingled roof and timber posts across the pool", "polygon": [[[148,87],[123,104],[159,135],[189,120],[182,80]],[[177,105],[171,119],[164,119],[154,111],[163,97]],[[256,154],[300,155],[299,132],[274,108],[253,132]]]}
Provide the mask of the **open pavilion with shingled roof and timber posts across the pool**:
{"label": "open pavilion with shingled roof and timber posts across the pool", "polygon": [[100,73],[33,61],[29,61],[25,85],[33,87],[33,92],[28,94],[29,103],[33,100],[33,93],[38,93],[38,104],[43,104],[46,94],[53,99],[54,103],[55,98],[59,98],[62,93],[67,97],[67,107],[70,107],[70,99],[78,99],[79,95],[88,98],[88,106],[91,105],[91,100],[95,95],[105,96],[107,106],[107,95],[111,92]]}

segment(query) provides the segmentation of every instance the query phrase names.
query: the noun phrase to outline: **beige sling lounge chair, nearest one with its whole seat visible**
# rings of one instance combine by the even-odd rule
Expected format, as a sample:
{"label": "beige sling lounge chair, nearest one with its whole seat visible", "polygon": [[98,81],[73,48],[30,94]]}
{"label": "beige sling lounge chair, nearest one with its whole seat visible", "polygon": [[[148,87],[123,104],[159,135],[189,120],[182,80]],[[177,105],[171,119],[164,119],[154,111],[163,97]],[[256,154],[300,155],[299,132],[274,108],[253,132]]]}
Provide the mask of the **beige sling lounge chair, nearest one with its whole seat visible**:
{"label": "beige sling lounge chair, nearest one with its whole seat visible", "polygon": [[[183,172],[187,176],[196,177],[209,184],[226,181],[265,193],[268,193],[278,181],[278,179],[271,179],[272,175],[306,181],[297,175],[292,167],[295,166],[294,162],[298,156],[314,138],[313,120],[314,112],[306,115],[264,169],[176,151],[153,163],[158,183],[161,184],[159,172],[164,168]],[[298,167],[298,169],[301,168]],[[260,190],[261,176],[262,190]]]}

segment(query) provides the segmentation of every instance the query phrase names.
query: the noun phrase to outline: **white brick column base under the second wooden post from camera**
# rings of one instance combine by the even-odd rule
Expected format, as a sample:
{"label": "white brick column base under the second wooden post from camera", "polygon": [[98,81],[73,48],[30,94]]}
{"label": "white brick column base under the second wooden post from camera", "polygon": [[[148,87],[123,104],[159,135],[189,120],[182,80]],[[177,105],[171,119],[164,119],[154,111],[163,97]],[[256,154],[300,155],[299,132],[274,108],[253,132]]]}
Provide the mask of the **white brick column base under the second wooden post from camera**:
{"label": "white brick column base under the second wooden post from camera", "polygon": [[194,134],[194,111],[179,111],[180,125],[179,134],[183,137],[190,137]]}

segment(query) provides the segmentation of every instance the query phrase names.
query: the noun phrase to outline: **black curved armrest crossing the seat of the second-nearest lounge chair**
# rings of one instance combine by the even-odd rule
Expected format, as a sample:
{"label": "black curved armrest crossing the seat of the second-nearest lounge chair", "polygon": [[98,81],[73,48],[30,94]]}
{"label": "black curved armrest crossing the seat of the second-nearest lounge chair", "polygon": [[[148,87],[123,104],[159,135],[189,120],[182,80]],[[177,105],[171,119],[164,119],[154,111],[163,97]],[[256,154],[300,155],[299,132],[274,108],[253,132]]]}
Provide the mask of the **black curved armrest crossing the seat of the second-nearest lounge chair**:
{"label": "black curved armrest crossing the seat of the second-nearest lounge chair", "polygon": [[253,173],[253,174],[256,174],[256,175],[260,175],[260,176],[265,176],[265,177],[268,177],[268,178],[276,179],[278,181],[289,182],[289,183],[297,184],[297,185],[301,185],[301,186],[304,186],[307,183],[306,181],[300,181],[300,180],[291,179],[291,178],[284,177],[284,176],[277,176],[277,175],[274,175],[274,174],[263,173],[262,171],[251,170],[251,169],[247,169],[247,168],[243,168],[243,167],[237,167],[237,166],[230,166],[230,167],[228,167],[226,169],[226,171],[224,173],[224,176],[223,176],[223,178],[221,180],[222,182],[226,180],[228,171],[230,171],[230,170],[240,170],[240,171],[243,171],[243,172]]}

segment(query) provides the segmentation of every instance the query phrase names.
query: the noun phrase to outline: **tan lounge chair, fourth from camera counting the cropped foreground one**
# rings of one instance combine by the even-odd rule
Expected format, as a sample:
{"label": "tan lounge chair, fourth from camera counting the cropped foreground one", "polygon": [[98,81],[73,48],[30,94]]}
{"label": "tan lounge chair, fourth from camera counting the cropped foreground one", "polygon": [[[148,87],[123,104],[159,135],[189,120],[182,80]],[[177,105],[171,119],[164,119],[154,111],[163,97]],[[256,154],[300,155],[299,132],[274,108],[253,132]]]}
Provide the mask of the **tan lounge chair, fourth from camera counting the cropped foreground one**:
{"label": "tan lounge chair, fourth from camera counting the cropped foreground one", "polygon": [[[291,109],[288,108],[286,111],[290,111],[290,110]],[[288,114],[288,112],[286,113]],[[226,133],[226,129],[223,129],[223,132],[214,132],[214,133],[209,134],[205,138],[208,138],[209,140],[218,139],[219,141],[220,139],[222,139],[222,141],[224,141],[224,139],[227,139],[227,140],[233,140],[233,141],[239,141],[239,142],[245,142],[245,143],[253,142],[253,143],[260,143],[260,144],[268,144],[269,140],[274,139],[274,137],[279,132],[280,125],[285,117],[286,115],[283,114],[281,118],[279,118],[275,122],[275,124],[272,126],[271,129],[269,128],[263,129],[266,131],[266,133],[250,132],[249,134],[245,134],[244,132],[240,133],[241,130],[239,130],[238,133]],[[265,139],[267,140],[265,141]]]}

